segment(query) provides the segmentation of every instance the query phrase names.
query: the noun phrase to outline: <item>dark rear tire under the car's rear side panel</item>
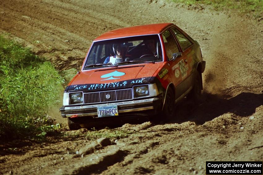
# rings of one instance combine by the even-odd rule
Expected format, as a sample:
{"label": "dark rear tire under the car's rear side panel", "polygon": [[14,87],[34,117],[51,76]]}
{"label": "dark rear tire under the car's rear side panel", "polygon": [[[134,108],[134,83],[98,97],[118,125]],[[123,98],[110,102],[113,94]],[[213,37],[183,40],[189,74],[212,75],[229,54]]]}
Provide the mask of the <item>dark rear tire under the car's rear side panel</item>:
{"label": "dark rear tire under the car's rear side panel", "polygon": [[193,100],[195,103],[200,103],[202,94],[202,80],[199,72],[196,73],[194,86],[191,92],[189,93],[189,98]]}

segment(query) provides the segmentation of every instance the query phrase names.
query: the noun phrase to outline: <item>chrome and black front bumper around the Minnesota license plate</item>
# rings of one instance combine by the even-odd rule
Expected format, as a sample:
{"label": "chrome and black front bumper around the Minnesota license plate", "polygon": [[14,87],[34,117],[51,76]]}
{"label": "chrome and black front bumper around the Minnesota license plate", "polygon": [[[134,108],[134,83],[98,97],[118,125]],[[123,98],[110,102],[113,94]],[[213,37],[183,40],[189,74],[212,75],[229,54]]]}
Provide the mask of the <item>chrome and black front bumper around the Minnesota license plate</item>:
{"label": "chrome and black front bumper around the Minnesota license plate", "polygon": [[[97,105],[82,105],[82,106],[62,106],[59,110],[63,118],[75,117],[91,117],[98,118],[97,107],[107,105],[117,105],[119,115],[129,114],[147,114],[154,115],[162,107],[162,98],[154,97],[140,100],[132,100],[126,102],[111,102]],[[149,113],[151,110],[151,113]]]}

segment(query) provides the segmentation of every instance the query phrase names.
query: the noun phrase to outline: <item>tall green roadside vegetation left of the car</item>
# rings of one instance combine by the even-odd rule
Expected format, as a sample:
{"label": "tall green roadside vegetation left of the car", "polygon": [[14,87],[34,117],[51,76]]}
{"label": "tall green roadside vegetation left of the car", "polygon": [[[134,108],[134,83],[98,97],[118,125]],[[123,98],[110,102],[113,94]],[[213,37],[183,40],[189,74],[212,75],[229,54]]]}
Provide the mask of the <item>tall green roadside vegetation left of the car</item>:
{"label": "tall green roadside vegetation left of the car", "polygon": [[46,110],[58,102],[63,82],[50,62],[0,36],[0,140],[59,129]]}

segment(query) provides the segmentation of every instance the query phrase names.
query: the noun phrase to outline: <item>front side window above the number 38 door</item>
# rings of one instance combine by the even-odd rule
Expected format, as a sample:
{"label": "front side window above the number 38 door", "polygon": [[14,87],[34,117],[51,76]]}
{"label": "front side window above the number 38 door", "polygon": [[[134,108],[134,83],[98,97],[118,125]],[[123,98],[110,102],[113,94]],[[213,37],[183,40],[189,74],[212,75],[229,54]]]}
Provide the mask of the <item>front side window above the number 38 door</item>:
{"label": "front side window above the number 38 door", "polygon": [[162,33],[162,38],[164,41],[168,60],[170,60],[173,58],[173,53],[179,52],[178,46],[175,42],[173,35],[171,35],[169,30],[166,30]]}

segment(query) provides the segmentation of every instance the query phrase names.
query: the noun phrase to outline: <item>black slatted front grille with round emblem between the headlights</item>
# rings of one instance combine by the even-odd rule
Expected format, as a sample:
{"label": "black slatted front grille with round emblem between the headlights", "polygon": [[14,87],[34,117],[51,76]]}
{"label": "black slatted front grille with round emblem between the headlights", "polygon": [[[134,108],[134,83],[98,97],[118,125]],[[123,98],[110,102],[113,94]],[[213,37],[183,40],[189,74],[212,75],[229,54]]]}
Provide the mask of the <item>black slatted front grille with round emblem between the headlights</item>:
{"label": "black slatted front grille with round emblem between the headlights", "polygon": [[[106,98],[106,96],[108,98]],[[84,104],[116,102],[130,99],[132,99],[131,89],[84,93]]]}

